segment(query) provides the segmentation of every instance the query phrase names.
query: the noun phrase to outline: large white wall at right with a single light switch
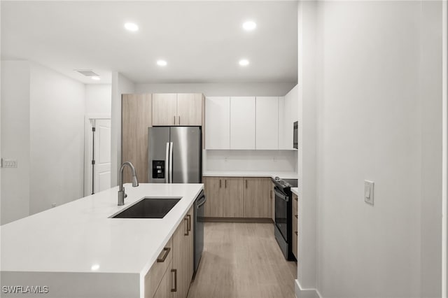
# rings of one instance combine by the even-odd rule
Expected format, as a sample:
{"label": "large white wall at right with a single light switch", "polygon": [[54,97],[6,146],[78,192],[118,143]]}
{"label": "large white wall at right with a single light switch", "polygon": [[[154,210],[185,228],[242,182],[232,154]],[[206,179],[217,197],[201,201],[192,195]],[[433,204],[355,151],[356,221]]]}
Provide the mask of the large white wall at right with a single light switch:
{"label": "large white wall at right with a single light switch", "polygon": [[[440,2],[316,5],[316,288],[440,297]],[[309,173],[304,166],[304,192]],[[374,206],[363,201],[364,179],[375,182]]]}

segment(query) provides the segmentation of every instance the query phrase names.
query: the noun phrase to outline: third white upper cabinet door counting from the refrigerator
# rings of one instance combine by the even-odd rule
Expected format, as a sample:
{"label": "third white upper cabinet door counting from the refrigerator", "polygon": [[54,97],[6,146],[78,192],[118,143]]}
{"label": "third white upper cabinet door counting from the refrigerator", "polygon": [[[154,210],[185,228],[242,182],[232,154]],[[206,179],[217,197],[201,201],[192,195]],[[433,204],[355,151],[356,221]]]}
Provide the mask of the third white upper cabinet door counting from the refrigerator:
{"label": "third white upper cabinet door counting from the refrigerator", "polygon": [[258,150],[279,149],[279,98],[256,98],[256,140]]}

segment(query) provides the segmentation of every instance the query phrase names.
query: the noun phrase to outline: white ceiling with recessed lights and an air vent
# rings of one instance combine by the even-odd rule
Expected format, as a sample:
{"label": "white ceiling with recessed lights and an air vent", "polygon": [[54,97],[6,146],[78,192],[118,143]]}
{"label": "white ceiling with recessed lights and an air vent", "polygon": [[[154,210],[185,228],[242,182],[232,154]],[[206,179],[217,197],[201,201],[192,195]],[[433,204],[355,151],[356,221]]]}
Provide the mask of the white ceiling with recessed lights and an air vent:
{"label": "white ceiling with recessed lights and an air vent", "polygon": [[[255,31],[241,28],[245,20]],[[111,83],[113,71],[135,83],[296,82],[297,3],[1,1],[1,59],[28,59],[83,83],[96,82],[73,69],[92,69],[98,83]]]}

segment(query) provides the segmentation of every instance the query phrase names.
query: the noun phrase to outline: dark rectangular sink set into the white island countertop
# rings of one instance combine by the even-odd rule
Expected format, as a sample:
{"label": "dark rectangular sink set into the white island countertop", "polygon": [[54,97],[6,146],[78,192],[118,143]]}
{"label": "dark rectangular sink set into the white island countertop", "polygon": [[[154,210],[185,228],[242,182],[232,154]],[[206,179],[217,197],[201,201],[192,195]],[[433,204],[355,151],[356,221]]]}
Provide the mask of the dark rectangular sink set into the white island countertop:
{"label": "dark rectangular sink set into the white island countertop", "polygon": [[111,218],[164,218],[181,198],[144,197]]}

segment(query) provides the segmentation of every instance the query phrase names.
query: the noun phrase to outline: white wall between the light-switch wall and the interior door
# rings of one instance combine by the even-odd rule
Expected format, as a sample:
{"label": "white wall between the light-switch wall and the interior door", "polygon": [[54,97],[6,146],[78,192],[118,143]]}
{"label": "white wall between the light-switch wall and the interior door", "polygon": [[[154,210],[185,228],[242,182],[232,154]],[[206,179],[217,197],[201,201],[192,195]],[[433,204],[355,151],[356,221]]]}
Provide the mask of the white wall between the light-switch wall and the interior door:
{"label": "white wall between the light-switch wall and the interior door", "polygon": [[31,64],[30,213],[83,197],[85,87]]}

